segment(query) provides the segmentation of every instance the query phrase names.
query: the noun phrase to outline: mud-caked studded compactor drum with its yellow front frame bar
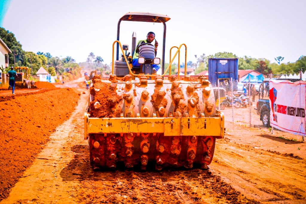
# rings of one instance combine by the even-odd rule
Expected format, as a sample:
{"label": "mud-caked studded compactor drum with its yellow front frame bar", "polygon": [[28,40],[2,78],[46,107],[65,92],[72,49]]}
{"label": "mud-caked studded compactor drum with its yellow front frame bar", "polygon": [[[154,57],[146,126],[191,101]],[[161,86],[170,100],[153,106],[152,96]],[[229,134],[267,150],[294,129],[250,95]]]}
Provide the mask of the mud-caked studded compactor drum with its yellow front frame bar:
{"label": "mud-caked studded compactor drum with its yellow front frame bar", "polygon": [[163,167],[207,169],[212,161],[216,138],[224,137],[223,113],[215,108],[211,83],[190,76],[118,80],[95,75],[85,112],[85,139],[90,162],[96,168],[127,168],[148,163]]}

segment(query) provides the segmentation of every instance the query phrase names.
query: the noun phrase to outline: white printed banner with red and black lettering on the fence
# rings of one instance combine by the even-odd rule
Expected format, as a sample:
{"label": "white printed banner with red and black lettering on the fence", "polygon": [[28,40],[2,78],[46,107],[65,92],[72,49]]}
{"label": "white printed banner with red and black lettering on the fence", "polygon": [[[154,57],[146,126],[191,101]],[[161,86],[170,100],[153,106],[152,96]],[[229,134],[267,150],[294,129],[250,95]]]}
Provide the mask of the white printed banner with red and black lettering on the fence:
{"label": "white printed banner with red and black lettering on the fence", "polygon": [[269,82],[271,126],[295,135],[306,136],[306,82]]}

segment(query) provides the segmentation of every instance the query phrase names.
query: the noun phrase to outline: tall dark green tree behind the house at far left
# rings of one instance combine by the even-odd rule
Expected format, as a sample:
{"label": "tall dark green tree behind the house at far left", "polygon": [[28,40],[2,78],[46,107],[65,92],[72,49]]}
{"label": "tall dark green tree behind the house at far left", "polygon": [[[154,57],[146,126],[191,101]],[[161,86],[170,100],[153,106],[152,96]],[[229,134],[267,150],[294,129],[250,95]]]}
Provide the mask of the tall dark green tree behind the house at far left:
{"label": "tall dark green tree behind the house at far left", "polygon": [[6,31],[5,28],[0,27],[0,38],[9,47],[12,53],[9,53],[9,63],[14,64],[14,55],[16,59],[16,66],[22,66],[24,58],[24,50],[22,45],[17,41],[12,32]]}

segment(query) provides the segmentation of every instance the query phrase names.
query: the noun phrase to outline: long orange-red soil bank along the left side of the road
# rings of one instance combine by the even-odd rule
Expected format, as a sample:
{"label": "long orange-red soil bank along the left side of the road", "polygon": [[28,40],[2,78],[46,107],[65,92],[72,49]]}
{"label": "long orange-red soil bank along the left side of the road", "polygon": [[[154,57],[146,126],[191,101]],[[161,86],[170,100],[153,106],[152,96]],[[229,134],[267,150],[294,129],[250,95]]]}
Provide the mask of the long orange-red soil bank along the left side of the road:
{"label": "long orange-red soil bank along the left side of the road", "polygon": [[0,201],[32,165],[50,134],[70,117],[79,95],[73,89],[55,89],[7,99],[0,102]]}

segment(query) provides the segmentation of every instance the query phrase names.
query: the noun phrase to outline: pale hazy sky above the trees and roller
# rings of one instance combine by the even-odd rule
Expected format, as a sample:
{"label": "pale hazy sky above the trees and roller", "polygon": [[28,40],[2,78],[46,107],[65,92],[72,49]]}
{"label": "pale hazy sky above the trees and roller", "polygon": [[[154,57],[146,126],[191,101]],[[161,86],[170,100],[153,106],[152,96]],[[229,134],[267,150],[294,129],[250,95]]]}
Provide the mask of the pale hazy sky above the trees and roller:
{"label": "pale hazy sky above the trees and roller", "polygon": [[[0,0],[0,27],[13,32],[25,51],[71,56],[76,62],[93,52],[110,64],[118,20],[128,12],[159,13],[171,18],[165,62],[172,46],[185,43],[187,61],[231,52],[271,62],[283,56],[287,63],[306,55],[305,8],[304,0]],[[134,31],[137,40],[155,32],[161,57],[162,24],[122,21],[120,42],[129,45],[129,52]]]}

